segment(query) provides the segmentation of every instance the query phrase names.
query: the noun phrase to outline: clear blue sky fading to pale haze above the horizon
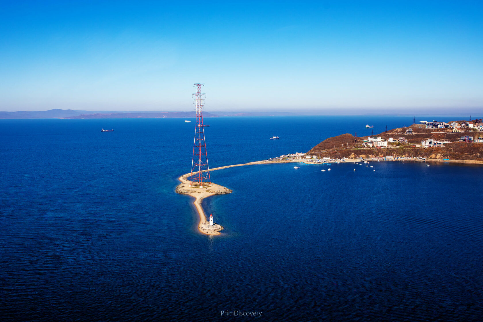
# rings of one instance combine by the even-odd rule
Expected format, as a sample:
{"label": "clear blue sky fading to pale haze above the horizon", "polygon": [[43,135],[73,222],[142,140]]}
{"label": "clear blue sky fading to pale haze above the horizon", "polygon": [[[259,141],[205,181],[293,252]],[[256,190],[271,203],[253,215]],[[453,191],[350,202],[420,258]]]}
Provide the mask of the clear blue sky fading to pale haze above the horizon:
{"label": "clear blue sky fading to pale haze above the horizon", "polygon": [[483,1],[0,6],[0,111],[483,107]]}

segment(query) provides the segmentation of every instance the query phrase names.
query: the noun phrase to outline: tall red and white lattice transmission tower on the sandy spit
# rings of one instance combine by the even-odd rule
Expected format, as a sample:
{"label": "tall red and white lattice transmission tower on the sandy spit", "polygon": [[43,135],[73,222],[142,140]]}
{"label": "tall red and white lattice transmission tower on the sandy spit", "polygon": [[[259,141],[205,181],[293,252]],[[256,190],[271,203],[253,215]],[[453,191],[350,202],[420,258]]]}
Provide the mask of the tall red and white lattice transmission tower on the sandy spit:
{"label": "tall red and white lattice transmission tower on the sandy spit", "polygon": [[[201,93],[201,85],[196,85],[195,108],[196,126],[195,142],[193,143],[193,161],[191,162],[190,187],[205,187],[211,185],[210,168],[208,167],[208,154],[206,153],[205,132],[203,126],[203,102],[201,98],[205,93]],[[194,172],[194,173],[193,173]],[[203,183],[205,182],[205,183]]]}

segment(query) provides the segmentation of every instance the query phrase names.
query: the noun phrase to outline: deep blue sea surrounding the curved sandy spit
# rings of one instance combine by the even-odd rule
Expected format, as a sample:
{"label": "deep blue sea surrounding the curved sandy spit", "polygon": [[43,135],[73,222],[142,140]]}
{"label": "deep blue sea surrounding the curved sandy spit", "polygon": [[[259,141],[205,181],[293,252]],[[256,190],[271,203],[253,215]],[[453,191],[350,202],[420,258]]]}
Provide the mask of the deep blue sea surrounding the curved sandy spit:
{"label": "deep blue sea surrounding the curved sandy spit", "polygon": [[[233,193],[204,201],[225,227],[208,237],[197,232],[190,197],[174,192],[191,170],[194,124],[0,120],[0,321],[483,315],[482,166],[213,171],[212,181]],[[205,124],[214,168],[306,152],[343,133],[369,135],[366,124],[380,133],[410,125],[412,117],[226,117]]]}

